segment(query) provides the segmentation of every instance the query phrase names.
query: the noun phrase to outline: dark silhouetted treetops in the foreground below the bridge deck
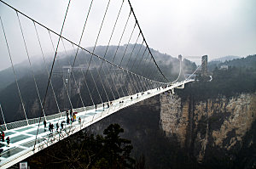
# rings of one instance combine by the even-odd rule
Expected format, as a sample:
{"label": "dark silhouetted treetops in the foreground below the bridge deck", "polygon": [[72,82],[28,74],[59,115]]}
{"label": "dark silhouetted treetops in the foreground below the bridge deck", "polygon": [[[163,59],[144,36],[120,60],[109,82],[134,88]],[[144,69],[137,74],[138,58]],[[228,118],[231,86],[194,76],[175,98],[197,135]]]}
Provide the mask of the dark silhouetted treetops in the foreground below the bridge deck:
{"label": "dark silhouetted treetops in the foreground below the bridge deck", "polygon": [[133,168],[131,141],[121,138],[124,132],[118,124],[111,124],[102,135],[79,132],[30,157],[32,168]]}

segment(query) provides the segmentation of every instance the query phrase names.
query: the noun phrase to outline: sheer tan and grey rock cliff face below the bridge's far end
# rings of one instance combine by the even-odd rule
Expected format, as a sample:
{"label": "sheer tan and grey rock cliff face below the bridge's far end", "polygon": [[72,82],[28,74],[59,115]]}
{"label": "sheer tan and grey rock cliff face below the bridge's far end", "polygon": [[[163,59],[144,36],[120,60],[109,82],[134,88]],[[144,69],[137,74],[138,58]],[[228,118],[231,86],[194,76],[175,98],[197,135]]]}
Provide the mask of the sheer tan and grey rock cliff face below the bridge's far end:
{"label": "sheer tan and grey rock cliff face below the bridge's far end", "polygon": [[206,101],[160,94],[160,126],[168,137],[176,136],[199,162],[204,161],[212,148],[224,152],[241,149],[243,138],[255,120],[256,93]]}

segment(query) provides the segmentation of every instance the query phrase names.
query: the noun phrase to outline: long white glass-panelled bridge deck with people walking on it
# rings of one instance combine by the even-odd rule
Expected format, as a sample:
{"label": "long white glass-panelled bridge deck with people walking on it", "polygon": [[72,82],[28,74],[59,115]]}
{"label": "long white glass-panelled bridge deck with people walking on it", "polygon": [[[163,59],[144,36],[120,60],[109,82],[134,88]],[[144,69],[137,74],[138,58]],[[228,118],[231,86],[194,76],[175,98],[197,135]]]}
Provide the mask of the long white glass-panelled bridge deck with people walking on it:
{"label": "long white glass-panelled bridge deck with people walking on it", "polygon": [[[9,166],[12,166],[15,163],[22,161],[27,157],[37,153],[41,149],[44,149],[51,144],[55,144],[61,139],[67,138],[69,135],[75,132],[79,132],[80,130],[90,126],[96,121],[100,121],[102,118],[105,118],[106,116],[111,115],[118,110],[124,109],[125,107],[128,107],[131,104],[136,104],[137,102],[140,102],[144,99],[148,99],[157,94],[166,92],[172,88],[181,86],[187,82],[192,82],[192,81],[194,80],[177,82],[172,86],[169,86],[166,88],[161,87],[160,90],[158,90],[157,88],[154,88],[144,92],[144,94],[137,93],[131,96],[126,96],[120,99],[116,99],[116,100],[113,100],[112,102],[113,104],[110,105],[109,108],[107,107],[107,104],[105,104],[104,108],[100,106],[97,108],[97,110],[91,109],[91,110],[85,110],[85,111],[79,112],[77,114],[77,118],[76,118],[77,120],[74,121],[73,123],[70,123],[69,125],[67,125],[67,116],[66,114],[63,113],[61,117],[47,121],[46,128],[44,128],[44,124],[43,122],[41,122],[39,129],[38,129],[38,123],[35,123],[28,126],[7,130],[5,131],[5,138],[7,137],[10,138],[10,144],[9,144],[9,147],[7,147],[6,142],[0,142],[0,149],[3,149],[3,153],[1,154],[1,157],[0,157],[0,168],[7,168]],[[81,122],[79,122],[79,117],[81,118]],[[60,130],[61,121],[63,121],[63,124],[64,124],[63,130]],[[54,129],[54,132],[49,132],[49,129],[48,129],[49,123],[54,124],[54,127],[56,123],[59,123],[59,126],[60,126],[59,130],[56,131],[56,129]],[[35,149],[33,149],[37,131],[38,131],[38,140],[37,140]]]}

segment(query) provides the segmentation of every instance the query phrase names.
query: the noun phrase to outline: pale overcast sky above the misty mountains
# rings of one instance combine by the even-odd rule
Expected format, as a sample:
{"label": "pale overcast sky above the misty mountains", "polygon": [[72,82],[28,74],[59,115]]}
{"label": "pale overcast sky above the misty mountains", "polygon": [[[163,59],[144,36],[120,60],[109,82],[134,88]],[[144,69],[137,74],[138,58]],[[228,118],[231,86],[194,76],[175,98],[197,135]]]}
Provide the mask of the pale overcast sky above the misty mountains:
{"label": "pale overcast sky above the misty mountains", "polygon": [[[5,0],[5,2],[50,29],[56,32],[61,31],[67,0]],[[174,57],[177,57],[178,54],[185,57],[207,54],[209,59],[226,55],[245,57],[249,54],[256,54],[255,0],[131,0],[131,3],[149,47],[159,50],[161,53]],[[94,0],[81,46],[90,47],[95,44],[107,4],[107,0]],[[97,45],[108,44],[120,4],[120,0],[111,0]],[[64,37],[73,42],[79,42],[89,6],[89,0],[71,1],[63,31]],[[125,0],[120,15],[122,20],[119,20],[116,28],[118,31],[113,35],[111,44],[118,44],[122,25],[125,24],[128,14],[129,7]],[[19,63],[22,60],[20,55],[26,57],[26,51],[22,43],[17,16],[3,3],[0,3],[0,16],[7,33],[11,53],[15,59],[14,62]],[[20,16],[20,21],[24,29],[29,54],[31,56],[39,55],[40,49],[32,22],[22,16]],[[131,32],[133,25],[134,21],[131,20],[127,32]],[[44,53],[52,52],[48,32],[38,25],[37,27]],[[136,33],[137,30],[134,35]],[[56,44],[57,37],[52,36]],[[127,43],[125,39],[128,39],[129,33],[125,36],[122,44]],[[135,39],[136,36],[132,38],[131,42],[135,42]],[[67,44],[67,49],[71,48],[72,46]],[[2,27],[0,27],[0,56],[2,58],[0,66],[3,69],[8,65],[2,60],[9,61],[9,59]]]}

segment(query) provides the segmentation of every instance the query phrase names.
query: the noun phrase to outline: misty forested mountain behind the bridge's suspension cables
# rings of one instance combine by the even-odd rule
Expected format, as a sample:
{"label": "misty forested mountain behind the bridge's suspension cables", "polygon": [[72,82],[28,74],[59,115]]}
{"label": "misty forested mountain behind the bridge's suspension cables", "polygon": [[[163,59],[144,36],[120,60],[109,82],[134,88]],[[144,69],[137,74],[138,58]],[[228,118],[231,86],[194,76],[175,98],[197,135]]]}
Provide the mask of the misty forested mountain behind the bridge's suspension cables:
{"label": "misty forested mountain behind the bridge's suspension cables", "polygon": [[[138,75],[146,76],[148,78],[153,78],[154,80],[158,80],[160,78],[160,75],[153,75],[151,73],[152,70],[148,70],[148,68],[153,67],[154,65],[153,61],[150,63],[141,63],[139,64],[140,60],[143,56],[143,51],[145,50],[145,47],[141,47],[139,45],[134,48],[132,45],[127,46],[121,46],[119,47],[118,51],[116,46],[110,46],[108,47],[108,53],[106,54],[105,59],[108,59],[110,61],[114,59],[115,65],[120,65],[127,68],[128,70],[131,70]],[[96,47],[95,53],[98,54],[101,57],[104,57],[105,51],[107,47]],[[139,50],[141,48],[141,52],[138,54]],[[91,49],[91,48],[90,48]],[[92,50],[92,49],[91,49]],[[124,56],[124,59],[122,60],[123,54],[126,50],[126,55]],[[133,53],[135,53],[133,56],[131,56],[131,52],[133,50]],[[167,54],[160,54],[159,52],[152,49],[152,53],[155,54],[155,59],[158,62],[160,69],[163,71],[163,73],[167,76],[168,79],[174,80],[177,77],[179,70],[179,61],[178,59],[172,58],[171,56]],[[131,58],[130,58],[131,56]],[[140,56],[140,57],[139,57]],[[148,56],[148,54],[144,54],[144,57]],[[163,56],[163,57],[161,57]],[[46,115],[51,115],[53,113],[58,112],[58,108],[55,105],[55,96],[56,101],[59,103],[60,109],[65,110],[67,106],[65,102],[67,102],[67,92],[66,88],[67,86],[63,85],[63,81],[67,78],[67,69],[70,68],[70,65],[73,65],[73,55],[69,51],[68,54],[59,54],[57,56],[57,59],[55,61],[55,67],[53,70],[53,75],[51,78],[52,86],[49,86],[49,93],[47,95],[46,99],[46,106],[45,106],[45,113]],[[75,76],[75,79],[73,79],[73,76],[70,76],[70,97],[72,100],[72,103],[75,107],[82,106],[81,101],[79,101],[79,91],[83,95],[82,98],[84,99],[85,105],[91,105],[93,104],[90,100],[90,94],[85,86],[84,83],[84,76],[81,73],[81,70],[85,71],[88,68],[88,60],[90,60],[91,54],[86,54],[84,51],[79,51],[79,54],[76,59],[76,63],[74,64],[73,69],[73,76]],[[128,62],[128,60],[130,61]],[[122,60],[122,63],[121,63]],[[48,73],[50,71],[51,66],[51,59],[47,59],[46,63],[47,65],[44,65],[44,60],[37,59],[32,63],[32,69],[35,74],[35,80],[37,82],[38,86],[38,93],[40,95],[41,101],[44,100],[44,93],[46,89],[46,85],[48,82]],[[102,89],[102,84],[100,82],[100,76],[98,75],[98,70],[102,64],[102,60],[98,59],[96,57],[92,57],[91,64],[90,64],[90,73],[86,76],[86,82],[87,85],[90,88],[90,93],[92,95],[92,98],[94,99],[95,103],[100,103],[100,99],[98,98],[98,93],[96,93],[95,83],[97,84],[97,87],[99,88],[99,93],[102,93],[102,99],[107,100],[106,94],[104,94],[104,91]],[[126,66],[127,65],[127,66]],[[191,71],[195,69],[195,64],[191,63],[189,60],[184,60],[183,65],[185,71]],[[46,68],[45,68],[46,67]],[[65,68],[64,68],[65,67]],[[154,66],[155,67],[155,66]],[[187,69],[189,70],[187,70]],[[48,73],[47,73],[47,70]],[[155,68],[156,69],[156,68]],[[41,115],[41,105],[38,99],[37,94],[37,88],[35,87],[35,82],[33,80],[32,72],[30,70],[30,67],[26,63],[26,61],[22,62],[20,65],[15,65],[15,70],[18,73],[18,84],[20,87],[20,94],[22,97],[22,100],[25,105],[26,109],[26,115],[28,118],[34,118],[38,117],[38,115]],[[112,65],[106,65],[104,62],[102,65],[102,70],[106,70],[105,74],[104,72],[101,72],[101,76],[103,77],[103,83],[108,84],[108,82],[111,82],[111,75],[115,75],[116,78],[114,79],[115,85],[119,91],[119,93],[122,93],[122,87],[124,85],[128,85],[128,90],[131,87],[131,84],[129,82],[129,79],[125,78],[124,75],[122,75],[124,72],[117,71],[115,67]],[[174,71],[175,70],[175,71]],[[115,71],[115,72],[113,72]],[[114,73],[114,74],[113,74]],[[95,79],[92,79],[93,75]],[[9,79],[5,80],[5,76],[9,77]],[[23,108],[21,106],[20,102],[20,96],[17,90],[17,86],[15,83],[15,76],[13,75],[13,71],[11,68],[7,70],[3,70],[0,72],[0,78],[5,82],[2,85],[2,90],[0,88],[0,103],[3,106],[3,114],[5,115],[6,121],[18,121],[21,119],[25,119]],[[79,88],[76,88],[75,81],[79,84]],[[162,79],[159,79],[162,81]],[[137,82],[134,82],[136,84]],[[113,84],[112,84],[113,85]],[[109,94],[109,99],[113,99],[113,95],[111,93],[111,89],[108,87],[109,85],[106,85],[106,91]],[[55,93],[53,93],[54,89]],[[118,96],[117,92],[113,93],[115,96]],[[55,96],[54,96],[55,95]]]}

